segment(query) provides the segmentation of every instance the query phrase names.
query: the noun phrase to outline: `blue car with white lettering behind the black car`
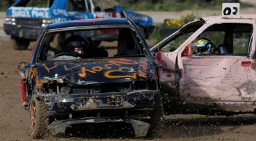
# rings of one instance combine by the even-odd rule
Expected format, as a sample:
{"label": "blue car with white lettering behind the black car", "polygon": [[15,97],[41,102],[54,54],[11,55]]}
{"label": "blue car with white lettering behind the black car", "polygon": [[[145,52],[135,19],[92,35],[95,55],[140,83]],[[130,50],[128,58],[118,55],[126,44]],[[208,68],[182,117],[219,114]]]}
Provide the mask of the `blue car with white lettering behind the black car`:
{"label": "blue car with white lettering behind the black car", "polygon": [[[115,0],[103,3],[97,0],[17,0],[8,8],[3,28],[7,35],[11,35],[14,49],[27,49],[47,24],[91,18],[130,18],[146,39],[154,31],[150,16],[121,9]],[[95,45],[100,45],[101,41],[117,40],[117,31],[113,30],[91,34],[96,37]]]}

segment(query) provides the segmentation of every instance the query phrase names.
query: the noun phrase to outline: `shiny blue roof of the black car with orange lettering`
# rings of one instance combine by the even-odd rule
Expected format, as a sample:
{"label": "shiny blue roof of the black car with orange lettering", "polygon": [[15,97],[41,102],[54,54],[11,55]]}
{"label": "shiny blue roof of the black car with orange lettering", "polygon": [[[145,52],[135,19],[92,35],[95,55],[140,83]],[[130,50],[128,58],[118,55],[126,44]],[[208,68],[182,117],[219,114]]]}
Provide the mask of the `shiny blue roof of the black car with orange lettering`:
{"label": "shiny blue roof of the black car with orange lettering", "polygon": [[46,30],[55,28],[68,28],[76,26],[97,26],[97,25],[130,25],[127,18],[93,18],[86,20],[71,20],[66,22],[58,22],[54,24],[49,24],[46,26]]}

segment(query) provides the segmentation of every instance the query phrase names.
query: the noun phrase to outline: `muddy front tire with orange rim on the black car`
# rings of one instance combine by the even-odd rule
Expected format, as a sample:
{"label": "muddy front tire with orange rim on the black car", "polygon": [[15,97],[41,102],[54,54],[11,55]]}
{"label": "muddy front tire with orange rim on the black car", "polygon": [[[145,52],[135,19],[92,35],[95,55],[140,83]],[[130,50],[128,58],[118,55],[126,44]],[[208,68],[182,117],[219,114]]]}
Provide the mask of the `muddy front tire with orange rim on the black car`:
{"label": "muddy front tire with orange rim on the black car", "polygon": [[47,125],[49,123],[46,105],[42,100],[32,96],[29,104],[29,131],[32,138],[40,139],[48,135]]}

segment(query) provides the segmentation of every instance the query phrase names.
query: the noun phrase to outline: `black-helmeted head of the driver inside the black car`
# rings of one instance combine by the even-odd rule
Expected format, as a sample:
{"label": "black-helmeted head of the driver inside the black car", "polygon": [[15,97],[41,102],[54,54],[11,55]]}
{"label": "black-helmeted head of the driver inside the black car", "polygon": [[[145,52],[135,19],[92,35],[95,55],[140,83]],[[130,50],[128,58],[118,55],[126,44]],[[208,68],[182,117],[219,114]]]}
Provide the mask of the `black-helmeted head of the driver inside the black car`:
{"label": "black-helmeted head of the driver inside the black car", "polygon": [[78,58],[87,58],[89,56],[90,43],[80,35],[72,35],[66,39],[66,49],[75,54]]}

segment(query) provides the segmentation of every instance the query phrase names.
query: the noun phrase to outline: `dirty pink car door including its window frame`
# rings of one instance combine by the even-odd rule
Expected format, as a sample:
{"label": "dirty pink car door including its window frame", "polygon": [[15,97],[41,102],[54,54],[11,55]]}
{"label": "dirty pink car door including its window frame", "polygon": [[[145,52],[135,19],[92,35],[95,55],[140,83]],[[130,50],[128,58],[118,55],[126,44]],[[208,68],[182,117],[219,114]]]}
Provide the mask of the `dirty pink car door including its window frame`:
{"label": "dirty pink car door including its window frame", "polygon": [[[255,24],[218,23],[205,26],[191,41],[206,37],[216,46],[223,43],[227,54],[195,56],[188,41],[178,55],[181,72],[180,96],[190,102],[244,102],[256,100]],[[238,36],[238,37],[236,37]],[[184,52],[187,54],[184,54]]]}

